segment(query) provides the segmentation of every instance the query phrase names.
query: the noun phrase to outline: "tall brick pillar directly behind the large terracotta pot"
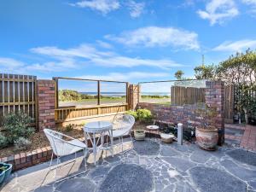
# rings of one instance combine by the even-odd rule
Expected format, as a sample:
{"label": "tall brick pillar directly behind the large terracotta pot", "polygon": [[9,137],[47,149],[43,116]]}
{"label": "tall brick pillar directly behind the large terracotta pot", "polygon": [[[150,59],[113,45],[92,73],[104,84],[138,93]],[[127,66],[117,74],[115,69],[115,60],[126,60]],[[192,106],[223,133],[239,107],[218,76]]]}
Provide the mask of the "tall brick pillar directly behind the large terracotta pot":
{"label": "tall brick pillar directly behind the large terracotta pot", "polygon": [[217,108],[218,115],[213,119],[218,128],[218,145],[224,143],[224,82],[207,81],[206,104]]}

